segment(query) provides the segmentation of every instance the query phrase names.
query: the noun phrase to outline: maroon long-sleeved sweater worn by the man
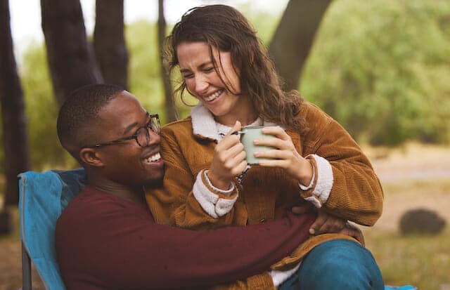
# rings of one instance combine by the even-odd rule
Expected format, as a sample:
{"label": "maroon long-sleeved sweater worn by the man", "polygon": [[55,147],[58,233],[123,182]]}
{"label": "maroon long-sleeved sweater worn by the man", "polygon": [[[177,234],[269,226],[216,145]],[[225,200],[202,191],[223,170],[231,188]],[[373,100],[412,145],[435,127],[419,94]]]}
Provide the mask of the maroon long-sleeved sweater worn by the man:
{"label": "maroon long-sleeved sweater worn by the man", "polygon": [[68,290],[198,289],[269,270],[307,239],[313,221],[290,214],[260,225],[184,230],[87,186],[58,219],[56,253]]}

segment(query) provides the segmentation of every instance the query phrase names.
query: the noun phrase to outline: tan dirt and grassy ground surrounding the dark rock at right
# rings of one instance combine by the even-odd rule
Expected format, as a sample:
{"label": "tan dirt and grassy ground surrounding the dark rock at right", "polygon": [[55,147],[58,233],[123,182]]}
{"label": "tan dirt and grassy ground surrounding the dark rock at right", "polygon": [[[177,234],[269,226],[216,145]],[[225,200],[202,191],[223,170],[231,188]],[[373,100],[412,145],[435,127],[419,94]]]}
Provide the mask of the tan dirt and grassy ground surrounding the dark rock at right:
{"label": "tan dirt and grassy ground surrounding the dark rock at right", "polygon": [[[450,172],[450,148],[411,143],[394,150],[365,151],[381,178],[385,203],[375,227],[363,231],[385,284],[450,289],[450,178],[442,176]],[[435,236],[401,236],[399,218],[420,207],[445,218],[446,228]]]}

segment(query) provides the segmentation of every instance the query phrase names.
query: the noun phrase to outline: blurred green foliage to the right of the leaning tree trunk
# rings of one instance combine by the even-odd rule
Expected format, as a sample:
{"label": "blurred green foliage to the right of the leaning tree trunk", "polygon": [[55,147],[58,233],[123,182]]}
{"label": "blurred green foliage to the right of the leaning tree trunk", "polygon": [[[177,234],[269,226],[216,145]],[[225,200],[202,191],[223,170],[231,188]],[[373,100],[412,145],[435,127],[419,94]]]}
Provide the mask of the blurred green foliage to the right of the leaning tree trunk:
{"label": "blurred green foliage to the right of the leaning tree trunk", "polygon": [[301,93],[356,138],[450,141],[450,2],[337,0]]}

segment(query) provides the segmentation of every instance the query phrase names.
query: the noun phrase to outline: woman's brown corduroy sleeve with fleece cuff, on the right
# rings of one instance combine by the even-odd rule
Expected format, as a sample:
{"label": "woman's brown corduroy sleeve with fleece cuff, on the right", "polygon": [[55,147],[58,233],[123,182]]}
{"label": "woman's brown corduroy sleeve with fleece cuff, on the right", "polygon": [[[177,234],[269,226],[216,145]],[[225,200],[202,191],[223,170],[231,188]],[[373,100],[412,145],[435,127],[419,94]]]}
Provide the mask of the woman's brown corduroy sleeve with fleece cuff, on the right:
{"label": "woman's brown corduroy sleeve with fleece cuff, on the right", "polygon": [[314,183],[302,197],[361,225],[373,225],[383,210],[383,189],[353,138],[318,107],[308,104],[304,155],[314,164]]}

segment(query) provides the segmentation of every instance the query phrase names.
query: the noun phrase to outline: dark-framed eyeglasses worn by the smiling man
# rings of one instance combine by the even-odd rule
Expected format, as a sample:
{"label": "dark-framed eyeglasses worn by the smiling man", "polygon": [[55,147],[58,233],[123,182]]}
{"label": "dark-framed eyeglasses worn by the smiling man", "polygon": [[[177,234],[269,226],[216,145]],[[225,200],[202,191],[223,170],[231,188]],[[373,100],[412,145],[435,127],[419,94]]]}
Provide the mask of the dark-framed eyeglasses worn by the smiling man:
{"label": "dark-framed eyeglasses worn by the smiling man", "polygon": [[120,144],[120,143],[123,143],[124,141],[131,140],[131,139],[136,140],[136,143],[138,143],[139,146],[147,147],[148,145],[150,145],[150,131],[149,130],[151,130],[157,134],[159,134],[161,131],[160,117],[158,116],[158,114],[148,114],[148,112],[147,112],[147,117],[150,118],[150,121],[148,121],[148,123],[145,124],[144,126],[139,127],[136,130],[136,133],[134,133],[131,136],[119,138],[117,140],[113,140],[110,142],[98,143],[96,145],[84,146],[84,147],[98,148],[98,147],[103,147],[103,146],[108,146],[108,145]]}

